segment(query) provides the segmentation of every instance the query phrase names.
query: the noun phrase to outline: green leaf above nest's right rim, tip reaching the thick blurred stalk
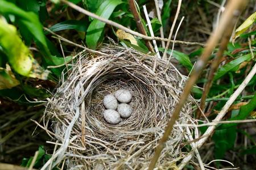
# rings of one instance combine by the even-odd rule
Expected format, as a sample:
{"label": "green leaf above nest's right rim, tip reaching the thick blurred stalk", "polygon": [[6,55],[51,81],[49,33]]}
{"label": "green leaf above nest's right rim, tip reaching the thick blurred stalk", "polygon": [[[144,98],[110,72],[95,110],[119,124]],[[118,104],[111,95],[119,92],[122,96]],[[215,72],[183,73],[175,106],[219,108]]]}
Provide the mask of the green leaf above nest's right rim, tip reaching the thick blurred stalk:
{"label": "green leaf above nest's right rim, tip reaching the thick blurred stalk", "polygon": [[[164,48],[158,48],[160,52],[164,52]],[[167,50],[167,54],[171,54],[171,50]],[[189,71],[191,71],[193,65],[188,57],[187,54],[177,52],[176,50],[173,50],[172,57],[177,59],[177,61],[180,62],[181,65],[185,66]]]}

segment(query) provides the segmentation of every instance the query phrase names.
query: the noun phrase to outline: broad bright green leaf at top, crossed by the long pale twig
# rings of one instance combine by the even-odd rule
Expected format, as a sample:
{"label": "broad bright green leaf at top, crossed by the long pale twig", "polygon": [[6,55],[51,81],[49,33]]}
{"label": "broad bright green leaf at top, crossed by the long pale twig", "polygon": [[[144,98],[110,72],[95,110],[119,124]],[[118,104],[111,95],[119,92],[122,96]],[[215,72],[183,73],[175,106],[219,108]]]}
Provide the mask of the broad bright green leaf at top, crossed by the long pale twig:
{"label": "broad bright green leaf at top, crossed by the long pale twig", "polygon": [[[110,15],[114,11],[114,8],[121,4],[120,0],[106,0],[101,3],[96,14],[102,18],[109,19]],[[101,33],[104,30],[105,23],[100,22],[97,19],[93,19],[87,29],[86,44],[89,48],[96,49],[97,42],[101,37]]]}

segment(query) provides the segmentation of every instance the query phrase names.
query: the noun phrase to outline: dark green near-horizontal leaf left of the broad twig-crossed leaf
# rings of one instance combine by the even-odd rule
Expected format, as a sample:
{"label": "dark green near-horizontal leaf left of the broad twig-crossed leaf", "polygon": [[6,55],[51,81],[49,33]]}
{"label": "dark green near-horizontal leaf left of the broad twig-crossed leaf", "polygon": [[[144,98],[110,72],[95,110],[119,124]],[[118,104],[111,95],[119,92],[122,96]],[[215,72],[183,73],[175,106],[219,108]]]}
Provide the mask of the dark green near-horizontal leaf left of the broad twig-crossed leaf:
{"label": "dark green near-horizontal leaf left of the broad twig-crossed leaf", "polygon": [[[52,25],[50,27],[51,31],[56,32],[56,31],[61,31],[65,29],[76,29],[76,31],[82,31],[85,32],[87,29],[86,22],[81,21],[81,20],[65,20],[64,22],[57,23],[55,25]],[[44,31],[44,34],[48,34],[48,31]]]}

